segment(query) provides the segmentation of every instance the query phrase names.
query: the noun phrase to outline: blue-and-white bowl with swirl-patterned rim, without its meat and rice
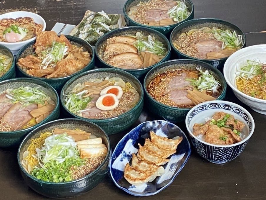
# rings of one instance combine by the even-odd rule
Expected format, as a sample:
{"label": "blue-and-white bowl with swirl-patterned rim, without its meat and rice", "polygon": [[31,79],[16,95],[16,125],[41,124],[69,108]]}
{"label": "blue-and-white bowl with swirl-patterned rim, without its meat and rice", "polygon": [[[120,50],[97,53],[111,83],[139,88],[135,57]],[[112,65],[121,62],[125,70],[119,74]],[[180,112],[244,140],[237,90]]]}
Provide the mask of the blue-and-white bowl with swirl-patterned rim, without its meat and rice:
{"label": "blue-and-white bowl with swirl-patterned rim, without its meat and rice", "polygon": [[[235,114],[238,114],[240,117],[242,117],[248,124],[249,131],[252,129],[252,123],[251,119],[248,117],[248,115],[243,112],[241,109],[224,104],[224,103],[210,103],[210,104],[204,104],[197,109],[195,109],[192,113],[189,114],[187,124],[189,126],[191,119],[197,115],[200,114],[202,111],[209,110],[209,109],[221,109],[223,111],[229,110],[234,112]],[[222,164],[226,163],[230,160],[234,160],[237,158],[237,156],[242,153],[242,151],[245,149],[247,142],[232,146],[232,147],[215,147],[211,145],[206,145],[198,140],[196,140],[194,137],[191,137],[192,144],[194,145],[197,153],[202,156],[203,158],[207,159],[208,161],[216,164]]]}

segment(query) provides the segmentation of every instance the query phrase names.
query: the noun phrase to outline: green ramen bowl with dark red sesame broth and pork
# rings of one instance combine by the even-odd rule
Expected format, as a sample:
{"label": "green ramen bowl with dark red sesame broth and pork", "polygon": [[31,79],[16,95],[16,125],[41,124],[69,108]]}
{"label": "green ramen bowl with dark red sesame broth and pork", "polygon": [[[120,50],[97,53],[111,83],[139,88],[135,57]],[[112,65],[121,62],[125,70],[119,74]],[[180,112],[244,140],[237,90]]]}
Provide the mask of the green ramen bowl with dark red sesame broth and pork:
{"label": "green ramen bowl with dark red sesame broth and pork", "polygon": [[153,114],[181,122],[195,105],[225,98],[226,82],[212,65],[178,59],[161,63],[144,79],[145,99]]}

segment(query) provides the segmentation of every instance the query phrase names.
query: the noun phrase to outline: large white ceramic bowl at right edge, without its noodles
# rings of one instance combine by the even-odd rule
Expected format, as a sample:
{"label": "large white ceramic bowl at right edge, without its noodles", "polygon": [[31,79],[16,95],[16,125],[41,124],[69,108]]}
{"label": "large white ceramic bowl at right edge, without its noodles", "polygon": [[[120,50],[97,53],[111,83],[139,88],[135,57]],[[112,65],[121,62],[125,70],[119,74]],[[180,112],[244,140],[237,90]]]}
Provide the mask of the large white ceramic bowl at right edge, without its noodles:
{"label": "large white ceramic bowl at right edge, without its noodles", "polygon": [[259,60],[261,63],[266,63],[266,44],[245,47],[233,53],[224,65],[225,81],[240,101],[250,106],[254,111],[266,115],[266,100],[249,96],[237,89],[237,67],[247,60]]}

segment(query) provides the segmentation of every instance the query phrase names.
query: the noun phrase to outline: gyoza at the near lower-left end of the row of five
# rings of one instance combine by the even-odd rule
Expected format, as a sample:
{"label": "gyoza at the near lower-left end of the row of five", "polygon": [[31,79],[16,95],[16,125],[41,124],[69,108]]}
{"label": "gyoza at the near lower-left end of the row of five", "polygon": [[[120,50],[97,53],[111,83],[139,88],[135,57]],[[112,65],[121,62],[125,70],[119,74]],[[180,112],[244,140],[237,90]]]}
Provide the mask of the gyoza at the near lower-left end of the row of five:
{"label": "gyoza at the near lower-left end of the row of five", "polygon": [[126,164],[124,178],[134,186],[153,181],[157,176],[156,171],[140,171]]}

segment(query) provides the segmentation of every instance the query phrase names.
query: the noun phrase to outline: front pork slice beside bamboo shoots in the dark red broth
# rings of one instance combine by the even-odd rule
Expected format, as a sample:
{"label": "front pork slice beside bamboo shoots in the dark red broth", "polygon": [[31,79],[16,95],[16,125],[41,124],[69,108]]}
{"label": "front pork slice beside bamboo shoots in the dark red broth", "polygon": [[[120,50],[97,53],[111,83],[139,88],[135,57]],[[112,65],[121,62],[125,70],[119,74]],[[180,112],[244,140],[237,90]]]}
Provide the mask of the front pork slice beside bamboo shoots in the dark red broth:
{"label": "front pork slice beside bamboo shoots in the dark red broth", "polygon": [[[192,105],[193,102],[187,97],[187,90],[175,89],[169,92],[169,99],[176,105]],[[194,105],[194,104],[193,104]]]}

